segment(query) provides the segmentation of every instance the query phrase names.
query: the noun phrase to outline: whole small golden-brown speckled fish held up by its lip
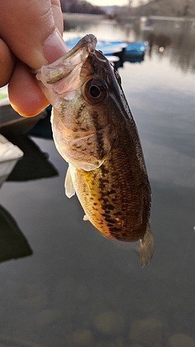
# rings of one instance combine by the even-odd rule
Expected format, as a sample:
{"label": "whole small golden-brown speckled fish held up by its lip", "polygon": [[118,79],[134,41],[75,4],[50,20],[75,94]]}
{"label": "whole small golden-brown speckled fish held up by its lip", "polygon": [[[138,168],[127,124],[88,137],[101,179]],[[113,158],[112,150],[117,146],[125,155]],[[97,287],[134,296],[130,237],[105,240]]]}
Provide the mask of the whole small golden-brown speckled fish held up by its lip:
{"label": "whole small golden-brown speckled fish held up by its lip", "polygon": [[65,190],[76,192],[84,220],[108,239],[139,241],[142,266],[151,261],[151,186],[137,126],[121,77],[85,35],[62,58],[37,71],[53,105],[56,149],[68,163]]}

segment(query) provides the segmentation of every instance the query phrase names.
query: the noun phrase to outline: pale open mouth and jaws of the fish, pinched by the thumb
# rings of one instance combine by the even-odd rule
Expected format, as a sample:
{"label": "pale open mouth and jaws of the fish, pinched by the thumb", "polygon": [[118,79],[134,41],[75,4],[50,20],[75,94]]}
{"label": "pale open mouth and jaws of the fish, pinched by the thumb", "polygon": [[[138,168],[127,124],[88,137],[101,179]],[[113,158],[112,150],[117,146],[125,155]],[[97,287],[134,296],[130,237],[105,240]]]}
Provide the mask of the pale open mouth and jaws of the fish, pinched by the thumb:
{"label": "pale open mouth and jaws of the fish, pinched by the thumb", "polygon": [[[83,84],[81,79],[85,80],[87,76],[94,74],[94,66],[100,74],[101,63],[108,62],[101,51],[96,51],[96,43],[95,35],[85,35],[65,56],[50,65],[42,66],[37,71],[37,79],[42,81],[53,97],[58,95],[62,99],[74,99]],[[43,92],[46,94],[47,90]]]}

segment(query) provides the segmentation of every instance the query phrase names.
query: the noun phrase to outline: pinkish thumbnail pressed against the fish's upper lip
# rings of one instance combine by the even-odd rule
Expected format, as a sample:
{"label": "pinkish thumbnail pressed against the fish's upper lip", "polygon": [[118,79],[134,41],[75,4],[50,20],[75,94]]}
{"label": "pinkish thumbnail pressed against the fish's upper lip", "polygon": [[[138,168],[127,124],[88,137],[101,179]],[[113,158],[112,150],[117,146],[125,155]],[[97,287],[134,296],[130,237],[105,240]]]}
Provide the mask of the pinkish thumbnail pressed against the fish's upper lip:
{"label": "pinkish thumbnail pressed against the fish's upper lip", "polygon": [[64,56],[67,51],[67,46],[57,29],[44,42],[44,58],[46,58],[49,64]]}

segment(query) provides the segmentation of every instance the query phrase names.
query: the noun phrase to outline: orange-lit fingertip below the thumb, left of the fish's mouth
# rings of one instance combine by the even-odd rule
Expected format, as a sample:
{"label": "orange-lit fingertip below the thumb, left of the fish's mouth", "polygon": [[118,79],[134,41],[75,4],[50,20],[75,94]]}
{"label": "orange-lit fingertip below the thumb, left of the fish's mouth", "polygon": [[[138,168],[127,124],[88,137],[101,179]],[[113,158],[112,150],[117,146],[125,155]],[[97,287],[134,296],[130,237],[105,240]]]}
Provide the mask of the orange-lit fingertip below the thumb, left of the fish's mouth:
{"label": "orange-lit fingertip below the thumb, left of the fish's mouth", "polygon": [[10,78],[8,94],[12,108],[20,115],[33,117],[49,105],[38,86],[35,75],[23,62],[16,62]]}

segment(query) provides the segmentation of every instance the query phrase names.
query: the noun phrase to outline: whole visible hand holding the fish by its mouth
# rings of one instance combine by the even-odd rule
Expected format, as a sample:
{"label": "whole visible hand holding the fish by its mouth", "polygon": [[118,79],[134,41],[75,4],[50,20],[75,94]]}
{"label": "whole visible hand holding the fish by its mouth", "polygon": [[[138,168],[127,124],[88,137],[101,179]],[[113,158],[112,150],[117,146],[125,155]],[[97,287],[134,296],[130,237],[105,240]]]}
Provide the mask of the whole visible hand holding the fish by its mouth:
{"label": "whole visible hand holding the fish by its mouth", "polygon": [[8,85],[12,107],[33,117],[49,102],[33,69],[67,53],[59,0],[0,0],[0,87]]}

